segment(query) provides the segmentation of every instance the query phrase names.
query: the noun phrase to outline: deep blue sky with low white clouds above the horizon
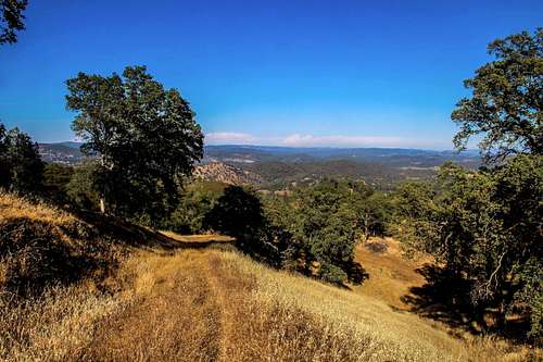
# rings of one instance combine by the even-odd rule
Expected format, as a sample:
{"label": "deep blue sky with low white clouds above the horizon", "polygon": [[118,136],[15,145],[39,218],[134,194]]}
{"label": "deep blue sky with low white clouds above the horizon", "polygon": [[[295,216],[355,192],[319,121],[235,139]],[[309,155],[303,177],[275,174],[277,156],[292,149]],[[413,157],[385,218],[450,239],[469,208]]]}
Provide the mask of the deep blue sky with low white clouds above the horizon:
{"label": "deep blue sky with low white clouds above the horizon", "polygon": [[64,82],[144,64],[207,143],[450,149],[463,79],[543,1],[30,0],[0,47],[0,120],[74,139]]}

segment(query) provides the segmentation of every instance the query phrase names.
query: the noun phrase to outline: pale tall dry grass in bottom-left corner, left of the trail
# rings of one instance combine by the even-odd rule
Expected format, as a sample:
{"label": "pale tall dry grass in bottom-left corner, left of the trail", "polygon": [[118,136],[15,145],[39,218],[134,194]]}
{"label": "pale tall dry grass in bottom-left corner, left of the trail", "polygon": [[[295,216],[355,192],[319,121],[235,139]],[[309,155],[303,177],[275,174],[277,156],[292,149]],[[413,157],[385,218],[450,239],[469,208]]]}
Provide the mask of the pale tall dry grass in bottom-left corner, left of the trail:
{"label": "pale tall dry grass in bottom-left corner, left of the trail", "polygon": [[121,299],[83,286],[50,288],[39,299],[0,296],[0,361],[76,361],[97,322],[122,308]]}

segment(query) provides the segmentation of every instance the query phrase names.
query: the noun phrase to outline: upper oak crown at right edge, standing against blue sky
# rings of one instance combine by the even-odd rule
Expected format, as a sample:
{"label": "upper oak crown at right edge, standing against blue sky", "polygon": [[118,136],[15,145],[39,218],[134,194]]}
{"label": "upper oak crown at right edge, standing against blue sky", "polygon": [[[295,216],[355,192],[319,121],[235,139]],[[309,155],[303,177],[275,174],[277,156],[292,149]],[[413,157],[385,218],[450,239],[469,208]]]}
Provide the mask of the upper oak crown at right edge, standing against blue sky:
{"label": "upper oak crown at right edge, standing against blue sky", "polygon": [[452,113],[460,126],[455,146],[464,149],[470,137],[482,135],[479,147],[488,161],[519,152],[541,154],[543,28],[495,40],[489,53],[496,60],[465,80],[472,97],[462,99]]}

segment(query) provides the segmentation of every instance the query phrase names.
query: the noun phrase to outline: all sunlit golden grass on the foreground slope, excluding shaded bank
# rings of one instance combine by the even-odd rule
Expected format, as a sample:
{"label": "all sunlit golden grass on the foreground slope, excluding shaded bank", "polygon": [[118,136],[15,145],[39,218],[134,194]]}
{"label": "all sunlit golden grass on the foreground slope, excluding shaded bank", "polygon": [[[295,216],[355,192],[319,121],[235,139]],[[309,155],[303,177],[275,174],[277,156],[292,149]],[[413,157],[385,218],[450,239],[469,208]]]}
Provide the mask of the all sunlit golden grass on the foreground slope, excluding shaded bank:
{"label": "all sunlit golden grass on the foreground slope, excluding shaded bank", "polygon": [[[28,205],[18,211],[10,208],[14,205],[3,203],[0,215],[4,221],[5,215],[18,217]],[[43,210],[52,223],[73,217]],[[216,246],[227,239],[212,245],[210,237],[169,237],[172,247],[187,248],[167,248],[164,242],[152,242],[151,248],[131,246],[119,269],[100,288],[84,279],[49,289],[39,299],[0,308],[0,360],[526,358],[522,349],[506,352],[506,345],[498,341],[459,340],[416,315],[395,311],[389,304],[394,304],[394,292],[400,291],[386,294],[369,284],[355,292],[338,289],[269,270],[229,246]],[[386,278],[369,270],[378,264],[374,261],[366,266],[376,283]],[[390,272],[393,264],[382,264],[381,272]],[[393,283],[393,277],[389,279]],[[392,284],[390,289],[400,290]]]}

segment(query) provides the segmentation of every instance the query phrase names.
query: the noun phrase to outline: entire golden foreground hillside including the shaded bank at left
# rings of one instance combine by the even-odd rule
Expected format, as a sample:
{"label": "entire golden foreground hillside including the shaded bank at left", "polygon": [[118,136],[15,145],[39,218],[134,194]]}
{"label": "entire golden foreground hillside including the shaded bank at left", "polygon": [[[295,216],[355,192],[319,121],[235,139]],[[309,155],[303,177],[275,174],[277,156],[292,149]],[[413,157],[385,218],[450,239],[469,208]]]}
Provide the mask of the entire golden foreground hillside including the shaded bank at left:
{"label": "entire golden foreground hillside including the shaded bank at left", "polygon": [[[399,296],[422,280],[417,263],[403,260],[391,240],[379,250],[358,246],[357,258],[363,265],[367,261],[369,280],[377,284],[338,288],[258,264],[227,237],[159,234],[113,219],[80,219],[7,194],[0,195],[0,208],[4,242],[11,242],[0,248],[1,360],[541,357],[540,350],[495,338],[455,337],[403,308]],[[85,260],[98,263],[62,277]],[[30,299],[5,292],[25,283],[46,288]]]}

